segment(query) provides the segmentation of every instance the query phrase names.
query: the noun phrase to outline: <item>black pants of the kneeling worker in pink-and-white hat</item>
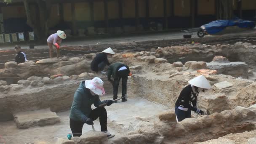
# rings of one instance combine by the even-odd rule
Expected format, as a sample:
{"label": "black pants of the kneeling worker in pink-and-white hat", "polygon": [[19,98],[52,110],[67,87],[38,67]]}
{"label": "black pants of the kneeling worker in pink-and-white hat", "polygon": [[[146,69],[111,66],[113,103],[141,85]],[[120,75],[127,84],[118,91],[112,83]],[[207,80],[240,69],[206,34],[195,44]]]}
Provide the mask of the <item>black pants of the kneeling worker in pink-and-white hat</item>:
{"label": "black pants of the kneeling worker in pink-and-white hat", "polygon": [[[96,108],[91,111],[89,118],[93,121],[99,117],[99,123],[101,125],[101,131],[107,131],[107,111],[104,107]],[[69,125],[73,136],[81,136],[83,130],[83,122],[70,119]]]}

